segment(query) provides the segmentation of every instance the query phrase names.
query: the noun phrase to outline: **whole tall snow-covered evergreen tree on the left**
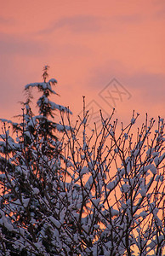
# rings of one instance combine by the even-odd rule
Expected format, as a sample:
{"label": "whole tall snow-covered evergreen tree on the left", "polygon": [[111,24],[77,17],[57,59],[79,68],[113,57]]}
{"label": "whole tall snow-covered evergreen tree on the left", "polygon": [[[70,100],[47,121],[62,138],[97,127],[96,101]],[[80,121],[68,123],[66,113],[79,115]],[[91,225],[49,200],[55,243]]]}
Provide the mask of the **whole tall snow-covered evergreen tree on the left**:
{"label": "whole tall snow-covered evergreen tree on the left", "polygon": [[[10,216],[8,222],[11,225],[14,224],[15,227],[14,230],[8,230],[5,224],[1,223],[3,224],[3,235],[6,236],[6,242],[3,244],[6,248],[4,255],[7,255],[8,250],[15,253],[12,255],[17,255],[20,252],[23,252],[24,255],[26,253],[26,240],[27,244],[28,242],[31,244],[36,239],[43,241],[46,250],[51,252],[49,245],[51,234],[48,235],[50,239],[47,239],[46,235],[44,237],[43,233],[40,234],[44,229],[45,232],[49,232],[42,218],[45,215],[44,212],[49,212],[48,216],[53,214],[54,208],[52,207],[57,203],[56,194],[61,189],[60,180],[66,176],[60,166],[61,160],[63,165],[65,163],[65,156],[61,153],[60,140],[62,138],[60,133],[71,130],[71,126],[54,122],[54,111],[58,110],[60,113],[66,114],[71,113],[71,111],[50,101],[49,96],[51,94],[57,95],[52,89],[57,81],[50,79],[47,82],[47,78],[48,66],[43,69],[42,83],[26,85],[28,97],[27,101],[22,103],[22,114],[18,116],[20,123],[1,119],[4,125],[0,141],[0,180],[3,191],[1,196],[2,212],[0,214],[2,218],[3,216]],[[37,87],[42,93],[37,101],[37,115],[31,111],[32,96],[29,92],[31,87]],[[11,130],[9,125],[13,128],[14,137],[9,135],[9,130]],[[53,184],[57,189],[55,194],[53,193]],[[45,201],[46,205],[48,205],[48,201],[51,201],[51,207],[47,208]],[[32,223],[31,218],[33,219]],[[20,234],[21,230],[24,231],[24,235]],[[21,236],[25,238],[23,245],[21,242],[19,243]],[[14,241],[18,241],[18,247],[14,245]],[[31,247],[30,251],[37,251],[35,247]],[[41,250],[42,247],[39,252]]]}

